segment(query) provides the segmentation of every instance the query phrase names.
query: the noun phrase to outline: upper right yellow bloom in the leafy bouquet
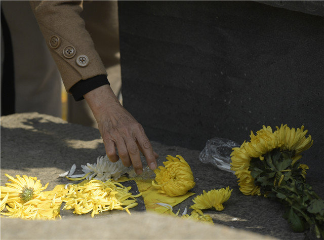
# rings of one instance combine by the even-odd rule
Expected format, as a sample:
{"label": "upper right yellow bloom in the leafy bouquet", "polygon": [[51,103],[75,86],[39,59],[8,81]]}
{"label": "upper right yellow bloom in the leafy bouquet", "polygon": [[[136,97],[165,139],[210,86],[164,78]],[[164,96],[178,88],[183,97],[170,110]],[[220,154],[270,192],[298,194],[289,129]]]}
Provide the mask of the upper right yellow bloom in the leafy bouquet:
{"label": "upper right yellow bloom in the leafy bouquet", "polygon": [[[284,150],[295,151],[294,155],[299,155],[301,152],[310,148],[313,144],[313,140],[310,135],[306,138],[307,130],[304,131],[304,126],[300,129],[290,129],[287,124],[276,127],[275,134],[278,141],[281,143]],[[295,161],[296,162],[296,161]]]}

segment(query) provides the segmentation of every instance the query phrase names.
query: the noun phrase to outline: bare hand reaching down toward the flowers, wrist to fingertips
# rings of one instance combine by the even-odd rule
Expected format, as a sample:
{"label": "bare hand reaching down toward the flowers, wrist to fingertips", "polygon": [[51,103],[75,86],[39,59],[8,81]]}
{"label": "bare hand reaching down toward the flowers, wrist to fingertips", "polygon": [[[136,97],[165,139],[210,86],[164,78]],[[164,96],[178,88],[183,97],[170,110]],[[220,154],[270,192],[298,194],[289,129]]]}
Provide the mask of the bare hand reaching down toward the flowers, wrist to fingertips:
{"label": "bare hand reaching down toward the flowers, wrist to fingertips", "polygon": [[84,97],[98,123],[109,160],[117,162],[120,157],[126,167],[133,165],[134,171],[141,174],[143,172],[141,151],[149,168],[154,170],[157,153],[153,151],[143,127],[121,106],[110,86],[96,88]]}

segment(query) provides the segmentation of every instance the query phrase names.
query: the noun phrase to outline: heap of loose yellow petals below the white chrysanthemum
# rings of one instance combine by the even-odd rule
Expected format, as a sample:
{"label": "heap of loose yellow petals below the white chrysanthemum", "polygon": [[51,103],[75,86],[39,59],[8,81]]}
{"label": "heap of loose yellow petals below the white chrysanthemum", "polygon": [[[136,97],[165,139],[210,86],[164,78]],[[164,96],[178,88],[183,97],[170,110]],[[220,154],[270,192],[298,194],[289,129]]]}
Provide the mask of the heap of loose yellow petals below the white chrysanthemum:
{"label": "heap of loose yellow petals below the white chrysanthemum", "polygon": [[131,214],[128,209],[137,206],[135,197],[141,194],[134,196],[129,192],[130,189],[131,187],[124,187],[111,180],[106,182],[91,180],[69,185],[66,197],[62,197],[62,201],[66,202],[63,209],[74,209],[73,213],[79,215],[92,211],[91,217],[99,212],[113,209],[125,210]]}

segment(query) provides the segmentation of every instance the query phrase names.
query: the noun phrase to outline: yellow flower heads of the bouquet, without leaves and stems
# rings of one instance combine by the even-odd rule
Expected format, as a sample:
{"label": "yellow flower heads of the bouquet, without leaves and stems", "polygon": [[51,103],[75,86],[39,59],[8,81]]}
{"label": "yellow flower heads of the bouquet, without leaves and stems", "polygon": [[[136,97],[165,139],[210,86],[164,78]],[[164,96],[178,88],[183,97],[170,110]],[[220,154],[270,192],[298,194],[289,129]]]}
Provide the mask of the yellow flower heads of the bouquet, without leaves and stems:
{"label": "yellow flower heads of the bouquet, without leaves and stems", "polygon": [[[260,195],[260,187],[255,186],[254,178],[249,171],[250,161],[257,157],[262,161],[264,154],[272,151],[275,148],[282,150],[293,151],[292,164],[296,163],[302,156],[301,152],[308,149],[313,141],[309,135],[305,137],[307,130],[304,131],[304,126],[300,129],[290,129],[287,125],[276,127],[276,131],[272,132],[271,127],[262,126],[262,129],[257,131],[256,135],[251,131],[250,142],[244,142],[240,147],[233,148],[231,153],[231,170],[235,171],[238,180],[239,190],[246,195]],[[305,177],[306,169],[303,168],[302,176]]]}

